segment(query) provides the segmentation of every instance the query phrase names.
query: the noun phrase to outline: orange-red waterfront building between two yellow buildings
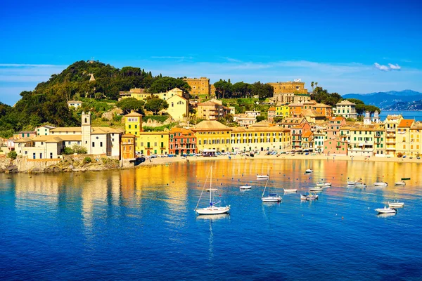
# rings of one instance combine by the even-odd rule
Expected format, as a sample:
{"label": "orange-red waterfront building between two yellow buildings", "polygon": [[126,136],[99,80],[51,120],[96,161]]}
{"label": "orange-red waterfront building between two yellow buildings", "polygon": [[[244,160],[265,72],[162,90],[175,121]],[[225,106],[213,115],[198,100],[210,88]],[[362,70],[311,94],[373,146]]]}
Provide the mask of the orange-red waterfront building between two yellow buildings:
{"label": "orange-red waterfront building between two yellow buildings", "polygon": [[197,153],[196,134],[190,129],[172,128],[169,138],[169,154],[189,155]]}

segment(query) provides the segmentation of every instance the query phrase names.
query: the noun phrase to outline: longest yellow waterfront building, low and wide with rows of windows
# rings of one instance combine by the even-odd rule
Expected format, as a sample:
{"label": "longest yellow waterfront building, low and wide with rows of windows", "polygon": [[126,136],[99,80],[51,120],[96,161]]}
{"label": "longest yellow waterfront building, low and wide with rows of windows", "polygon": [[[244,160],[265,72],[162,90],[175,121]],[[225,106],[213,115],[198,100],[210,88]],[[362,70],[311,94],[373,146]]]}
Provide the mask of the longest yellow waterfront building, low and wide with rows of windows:
{"label": "longest yellow waterfront building, low and wide with rows of windows", "polygon": [[284,151],[290,147],[290,130],[279,126],[236,127],[231,131],[231,151]]}

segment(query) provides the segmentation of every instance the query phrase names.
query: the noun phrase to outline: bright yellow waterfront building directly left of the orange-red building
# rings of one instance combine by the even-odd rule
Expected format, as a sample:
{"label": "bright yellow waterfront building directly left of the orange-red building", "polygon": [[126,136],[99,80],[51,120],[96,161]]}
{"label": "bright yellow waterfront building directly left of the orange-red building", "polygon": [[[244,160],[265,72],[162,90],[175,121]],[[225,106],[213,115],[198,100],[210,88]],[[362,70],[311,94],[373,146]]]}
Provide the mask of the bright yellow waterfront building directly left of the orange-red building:
{"label": "bright yellow waterfront building directly left of the orange-red building", "polygon": [[167,155],[169,131],[141,132],[138,138],[141,155]]}

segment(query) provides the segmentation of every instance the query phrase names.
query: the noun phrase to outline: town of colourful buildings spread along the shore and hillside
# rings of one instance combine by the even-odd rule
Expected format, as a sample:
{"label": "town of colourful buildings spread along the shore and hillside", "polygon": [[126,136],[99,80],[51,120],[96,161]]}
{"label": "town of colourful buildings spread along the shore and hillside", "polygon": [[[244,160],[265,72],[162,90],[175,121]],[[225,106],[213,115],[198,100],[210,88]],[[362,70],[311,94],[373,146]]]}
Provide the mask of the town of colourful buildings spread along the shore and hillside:
{"label": "town of colourful buildings spread along the shore and hillside", "polygon": [[[341,100],[335,107],[316,103],[300,80],[270,83],[274,95],[268,99],[267,112],[246,110],[241,114],[236,114],[234,106],[224,106],[215,98],[210,79],[185,81],[191,86],[188,95],[177,88],[164,93],[146,93],[143,89],[120,92],[120,100],[146,101],[150,96],[165,100],[168,108],[164,112],[184,126],[143,131],[143,116],[132,110],[124,115],[124,129],[94,127],[91,112],[82,112],[80,127],[44,125],[34,131],[20,131],[3,141],[2,150],[15,151],[16,156],[27,159],[59,159],[66,148],[80,147],[82,153],[89,155],[129,160],[139,156],[214,156],[226,152],[366,157],[419,157],[422,153],[421,122],[403,119],[401,115],[388,115],[381,120],[378,111],[365,112],[359,122],[354,103]],[[198,102],[198,96],[205,101]],[[78,107],[82,102],[72,100],[68,105]],[[203,120],[193,126],[186,123],[190,107],[195,108],[195,118]],[[262,118],[263,113],[267,113],[266,118]],[[236,126],[217,121],[228,116]]]}

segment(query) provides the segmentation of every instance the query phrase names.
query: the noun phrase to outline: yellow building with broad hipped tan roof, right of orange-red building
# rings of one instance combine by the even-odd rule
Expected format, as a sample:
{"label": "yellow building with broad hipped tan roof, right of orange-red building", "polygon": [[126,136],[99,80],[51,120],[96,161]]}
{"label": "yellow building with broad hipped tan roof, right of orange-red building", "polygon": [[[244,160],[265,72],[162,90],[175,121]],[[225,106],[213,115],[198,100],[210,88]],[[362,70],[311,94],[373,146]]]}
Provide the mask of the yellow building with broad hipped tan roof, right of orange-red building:
{"label": "yellow building with broad hipped tan roof, right of orange-red building", "polygon": [[217,121],[203,121],[191,130],[196,133],[199,151],[230,151],[231,128]]}

